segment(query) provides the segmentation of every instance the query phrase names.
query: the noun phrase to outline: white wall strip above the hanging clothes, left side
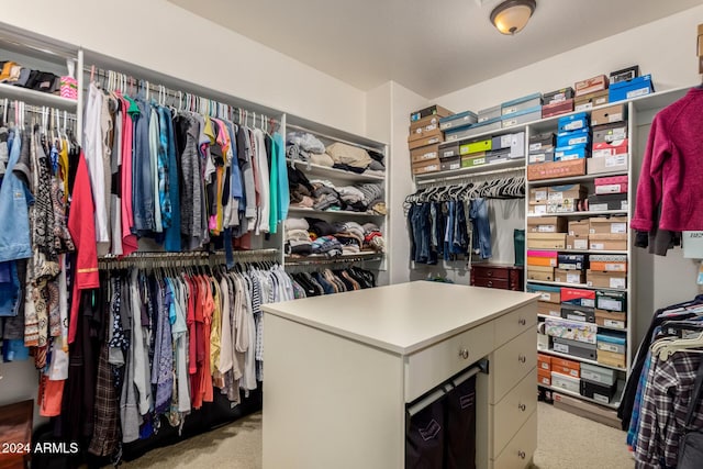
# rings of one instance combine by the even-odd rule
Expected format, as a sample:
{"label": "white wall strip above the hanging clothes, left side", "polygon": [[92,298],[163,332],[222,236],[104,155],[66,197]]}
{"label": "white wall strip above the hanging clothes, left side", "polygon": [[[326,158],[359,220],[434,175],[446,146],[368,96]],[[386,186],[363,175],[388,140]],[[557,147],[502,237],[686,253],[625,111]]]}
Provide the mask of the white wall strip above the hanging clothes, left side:
{"label": "white wall strip above the hanging clothes, left side", "polygon": [[166,0],[3,2],[0,21],[347,132],[365,130],[362,91]]}

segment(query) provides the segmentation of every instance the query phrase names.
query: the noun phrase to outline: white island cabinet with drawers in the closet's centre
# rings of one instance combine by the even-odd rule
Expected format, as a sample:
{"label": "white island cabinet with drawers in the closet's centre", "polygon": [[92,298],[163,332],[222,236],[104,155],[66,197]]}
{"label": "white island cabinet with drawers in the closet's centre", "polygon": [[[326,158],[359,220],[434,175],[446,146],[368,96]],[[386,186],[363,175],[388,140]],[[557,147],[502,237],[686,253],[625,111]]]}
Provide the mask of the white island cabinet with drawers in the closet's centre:
{"label": "white island cabinet with drawers in the closet's centre", "polygon": [[265,305],[264,468],[403,468],[408,404],[483,358],[477,468],[529,466],[536,300],[416,281]]}

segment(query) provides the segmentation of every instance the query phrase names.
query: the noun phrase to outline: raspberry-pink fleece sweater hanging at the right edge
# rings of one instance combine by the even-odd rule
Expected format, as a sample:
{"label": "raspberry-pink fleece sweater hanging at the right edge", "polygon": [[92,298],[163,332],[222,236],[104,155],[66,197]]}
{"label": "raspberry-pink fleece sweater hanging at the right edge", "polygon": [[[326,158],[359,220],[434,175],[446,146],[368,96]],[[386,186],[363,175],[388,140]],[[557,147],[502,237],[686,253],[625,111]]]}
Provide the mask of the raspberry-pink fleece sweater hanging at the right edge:
{"label": "raspberry-pink fleece sweater hanging at the right edge", "polygon": [[692,88],[654,119],[631,222],[649,232],[703,231],[703,88]]}

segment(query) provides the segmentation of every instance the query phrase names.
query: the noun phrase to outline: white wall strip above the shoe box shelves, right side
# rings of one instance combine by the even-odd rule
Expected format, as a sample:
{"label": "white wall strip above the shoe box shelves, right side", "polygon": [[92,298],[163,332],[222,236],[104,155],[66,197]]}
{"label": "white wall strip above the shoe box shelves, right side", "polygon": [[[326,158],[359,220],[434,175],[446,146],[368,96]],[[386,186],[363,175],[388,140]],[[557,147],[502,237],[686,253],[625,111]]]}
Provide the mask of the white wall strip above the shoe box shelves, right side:
{"label": "white wall strip above the shoe box shelves, right side", "polygon": [[431,101],[455,112],[479,111],[635,64],[643,74],[651,74],[658,90],[695,85],[696,26],[702,21],[703,5],[695,7]]}

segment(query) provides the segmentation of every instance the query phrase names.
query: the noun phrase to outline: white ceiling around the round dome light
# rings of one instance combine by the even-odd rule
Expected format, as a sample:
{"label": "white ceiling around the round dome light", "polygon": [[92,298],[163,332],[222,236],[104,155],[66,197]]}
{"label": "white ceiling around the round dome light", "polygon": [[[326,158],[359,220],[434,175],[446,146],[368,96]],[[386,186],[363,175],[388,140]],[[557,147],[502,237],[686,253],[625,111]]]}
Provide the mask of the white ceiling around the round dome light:
{"label": "white ceiling around the round dome light", "polygon": [[504,36],[489,20],[500,0],[169,1],[361,90],[394,80],[425,98],[703,3],[537,0]]}

